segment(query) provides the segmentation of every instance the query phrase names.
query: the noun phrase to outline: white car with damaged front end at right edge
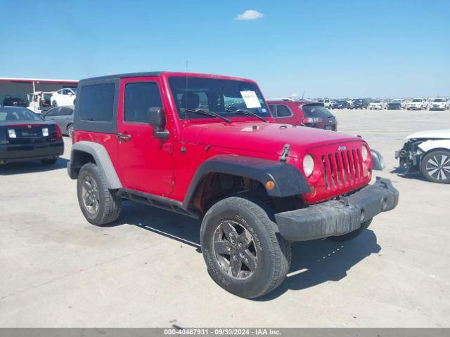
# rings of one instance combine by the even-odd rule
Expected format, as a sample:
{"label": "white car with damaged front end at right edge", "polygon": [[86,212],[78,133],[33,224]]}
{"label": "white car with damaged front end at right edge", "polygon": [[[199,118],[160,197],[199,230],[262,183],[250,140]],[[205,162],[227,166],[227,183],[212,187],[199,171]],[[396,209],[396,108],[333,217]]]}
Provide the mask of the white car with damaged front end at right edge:
{"label": "white car with damaged front end at right edge", "polygon": [[406,137],[403,148],[395,152],[400,167],[420,172],[433,183],[450,183],[450,129],[420,131]]}

